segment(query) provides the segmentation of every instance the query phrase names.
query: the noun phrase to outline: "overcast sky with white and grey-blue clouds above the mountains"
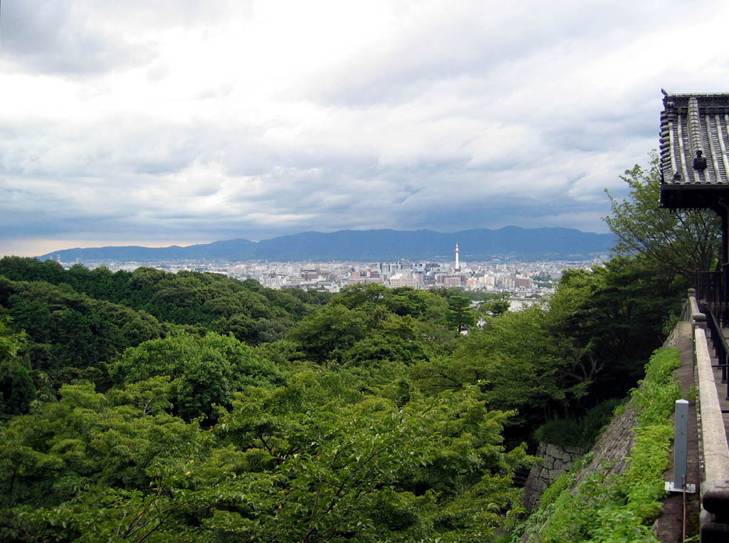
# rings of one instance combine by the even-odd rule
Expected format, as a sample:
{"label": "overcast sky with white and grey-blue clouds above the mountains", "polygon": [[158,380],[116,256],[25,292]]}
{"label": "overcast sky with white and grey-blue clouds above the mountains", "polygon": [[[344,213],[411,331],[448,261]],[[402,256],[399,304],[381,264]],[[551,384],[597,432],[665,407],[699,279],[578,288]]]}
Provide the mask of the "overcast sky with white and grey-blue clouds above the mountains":
{"label": "overcast sky with white and grey-blue clouds above the mountains", "polygon": [[725,1],[6,0],[0,254],[305,230],[606,232]]}

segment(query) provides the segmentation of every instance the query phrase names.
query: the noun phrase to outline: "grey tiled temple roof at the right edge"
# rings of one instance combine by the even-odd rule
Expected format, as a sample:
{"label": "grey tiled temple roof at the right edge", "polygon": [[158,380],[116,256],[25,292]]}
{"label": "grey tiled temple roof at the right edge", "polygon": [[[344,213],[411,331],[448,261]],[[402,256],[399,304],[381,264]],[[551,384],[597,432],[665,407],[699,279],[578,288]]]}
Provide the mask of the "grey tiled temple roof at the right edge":
{"label": "grey tiled temple roof at the right edge", "polygon": [[[729,186],[728,126],[729,93],[666,94],[660,114],[661,182]],[[706,158],[703,169],[694,167],[697,151]]]}

